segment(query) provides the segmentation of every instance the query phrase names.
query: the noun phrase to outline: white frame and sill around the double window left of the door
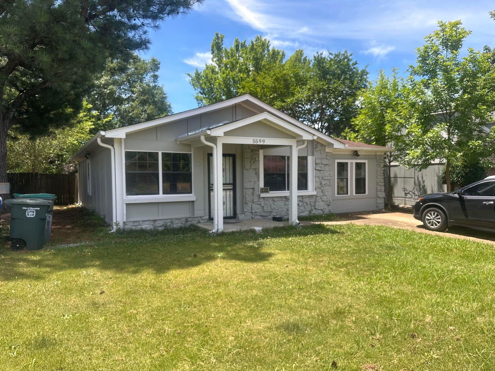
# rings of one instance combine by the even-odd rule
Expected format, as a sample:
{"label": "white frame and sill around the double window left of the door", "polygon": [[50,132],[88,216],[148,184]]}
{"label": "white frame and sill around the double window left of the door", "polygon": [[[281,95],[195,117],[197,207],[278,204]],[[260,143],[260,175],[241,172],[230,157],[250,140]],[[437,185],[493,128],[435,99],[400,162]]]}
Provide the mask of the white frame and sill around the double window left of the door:
{"label": "white frame and sill around the double window left of the door", "polygon": [[[124,149],[123,151],[123,165],[124,165],[124,189],[126,187],[126,164],[125,164],[125,152],[155,152],[158,153],[158,194],[138,194],[127,195],[125,190],[125,203],[145,203],[145,202],[177,202],[177,201],[196,201],[194,195],[194,155],[192,151],[154,151],[149,149]],[[163,171],[161,167],[161,154],[162,153],[189,153],[191,155],[191,193],[182,194],[163,194]]]}

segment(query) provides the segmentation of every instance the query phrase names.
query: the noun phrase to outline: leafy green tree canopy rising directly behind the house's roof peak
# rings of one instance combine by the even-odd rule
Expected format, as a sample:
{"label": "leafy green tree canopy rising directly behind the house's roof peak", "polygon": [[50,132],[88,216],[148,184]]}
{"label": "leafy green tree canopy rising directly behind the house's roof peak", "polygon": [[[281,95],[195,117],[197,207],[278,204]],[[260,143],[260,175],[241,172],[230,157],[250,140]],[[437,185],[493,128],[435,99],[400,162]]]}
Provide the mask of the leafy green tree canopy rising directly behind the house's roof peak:
{"label": "leafy green tree canopy rising directly behind the house's roof peak", "polygon": [[325,134],[340,134],[357,109],[357,93],[366,86],[368,72],[359,69],[352,54],[303,50],[285,52],[257,36],[250,43],[223,46],[215,34],[212,63],[189,74],[199,105],[249,93]]}

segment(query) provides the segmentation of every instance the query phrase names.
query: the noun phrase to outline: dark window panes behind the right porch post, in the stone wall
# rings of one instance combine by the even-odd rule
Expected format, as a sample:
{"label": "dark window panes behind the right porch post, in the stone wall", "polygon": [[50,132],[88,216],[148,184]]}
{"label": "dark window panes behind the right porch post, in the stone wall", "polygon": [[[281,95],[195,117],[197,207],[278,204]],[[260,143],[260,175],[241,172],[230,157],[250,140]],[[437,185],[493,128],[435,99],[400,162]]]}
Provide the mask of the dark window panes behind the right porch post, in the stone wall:
{"label": "dark window panes behind the right porch post, in the stone wall", "polygon": [[[290,183],[290,157],[263,156],[263,186],[272,191],[287,191]],[[297,157],[297,190],[308,189],[307,157]]]}

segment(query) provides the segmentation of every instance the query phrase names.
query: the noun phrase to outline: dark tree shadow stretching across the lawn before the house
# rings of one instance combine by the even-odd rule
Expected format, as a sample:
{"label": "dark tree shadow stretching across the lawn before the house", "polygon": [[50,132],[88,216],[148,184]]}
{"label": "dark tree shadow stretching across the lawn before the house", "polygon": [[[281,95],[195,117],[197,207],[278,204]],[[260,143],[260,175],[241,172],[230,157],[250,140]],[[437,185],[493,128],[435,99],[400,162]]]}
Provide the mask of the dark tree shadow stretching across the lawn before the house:
{"label": "dark tree shadow stretching across the lawn before the house", "polygon": [[218,259],[259,263],[274,255],[264,251],[267,238],[280,238],[283,244],[284,238],[291,236],[329,233],[337,231],[315,225],[219,235],[210,235],[196,227],[167,231],[100,232],[82,244],[50,245],[40,251],[0,251],[0,279],[41,280],[56,272],[90,269],[129,275],[147,270],[164,274]]}

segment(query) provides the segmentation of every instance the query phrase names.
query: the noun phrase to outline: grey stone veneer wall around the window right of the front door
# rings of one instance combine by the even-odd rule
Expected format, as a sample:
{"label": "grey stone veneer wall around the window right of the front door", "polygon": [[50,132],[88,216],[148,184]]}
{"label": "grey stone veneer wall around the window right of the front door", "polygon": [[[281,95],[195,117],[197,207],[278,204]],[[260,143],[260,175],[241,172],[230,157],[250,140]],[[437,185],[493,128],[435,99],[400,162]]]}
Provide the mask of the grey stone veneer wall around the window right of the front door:
{"label": "grey stone veneer wall around the window right of the front door", "polygon": [[[308,145],[311,145],[310,143]],[[316,195],[297,197],[297,213],[303,216],[326,214],[332,211],[331,153],[325,152],[323,144],[317,141],[313,143]],[[259,166],[259,146],[244,145],[244,214],[240,214],[239,219],[289,217],[288,196],[259,196]]]}

